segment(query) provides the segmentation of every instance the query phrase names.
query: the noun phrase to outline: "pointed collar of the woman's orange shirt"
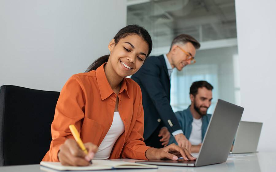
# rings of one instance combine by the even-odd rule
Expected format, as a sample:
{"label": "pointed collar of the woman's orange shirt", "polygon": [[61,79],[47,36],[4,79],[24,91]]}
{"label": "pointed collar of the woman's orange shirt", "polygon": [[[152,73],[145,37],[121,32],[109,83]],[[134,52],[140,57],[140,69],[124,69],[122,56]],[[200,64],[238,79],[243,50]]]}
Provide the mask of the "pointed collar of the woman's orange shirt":
{"label": "pointed collar of the woman's orange shirt", "polygon": [[[97,78],[97,82],[98,82],[102,100],[105,100],[112,93],[114,93],[114,91],[112,90],[112,88],[109,85],[109,82],[105,76],[105,70],[104,70],[105,64],[106,64],[106,62],[96,69],[96,78]],[[128,98],[130,98],[128,95],[128,88],[127,88],[127,83],[125,81],[125,78],[121,82],[121,90],[119,93],[122,93],[124,90],[125,90]]]}

